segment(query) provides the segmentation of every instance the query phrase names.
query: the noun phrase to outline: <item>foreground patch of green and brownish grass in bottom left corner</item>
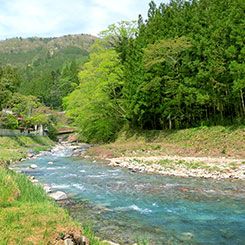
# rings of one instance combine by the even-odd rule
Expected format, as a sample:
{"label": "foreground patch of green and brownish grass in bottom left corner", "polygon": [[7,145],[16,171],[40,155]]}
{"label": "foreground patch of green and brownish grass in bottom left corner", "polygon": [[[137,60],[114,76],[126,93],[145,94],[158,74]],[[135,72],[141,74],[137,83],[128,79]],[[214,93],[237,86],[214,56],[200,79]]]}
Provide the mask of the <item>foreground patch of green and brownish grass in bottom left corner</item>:
{"label": "foreground patch of green and brownish grass in bottom left corner", "polygon": [[0,168],[1,244],[48,244],[61,232],[81,233],[81,229],[40,186]]}

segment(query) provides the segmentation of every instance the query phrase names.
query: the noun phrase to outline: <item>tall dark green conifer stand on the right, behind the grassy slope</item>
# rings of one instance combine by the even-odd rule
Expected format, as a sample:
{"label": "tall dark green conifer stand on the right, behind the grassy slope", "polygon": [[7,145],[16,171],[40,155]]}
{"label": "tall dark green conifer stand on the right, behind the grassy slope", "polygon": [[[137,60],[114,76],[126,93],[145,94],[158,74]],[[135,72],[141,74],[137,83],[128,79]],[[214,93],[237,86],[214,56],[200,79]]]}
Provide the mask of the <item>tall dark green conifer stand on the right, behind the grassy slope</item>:
{"label": "tall dark green conifer stand on the right, behind the grassy slope", "polygon": [[242,9],[240,0],[150,3],[123,61],[130,127],[244,123]]}

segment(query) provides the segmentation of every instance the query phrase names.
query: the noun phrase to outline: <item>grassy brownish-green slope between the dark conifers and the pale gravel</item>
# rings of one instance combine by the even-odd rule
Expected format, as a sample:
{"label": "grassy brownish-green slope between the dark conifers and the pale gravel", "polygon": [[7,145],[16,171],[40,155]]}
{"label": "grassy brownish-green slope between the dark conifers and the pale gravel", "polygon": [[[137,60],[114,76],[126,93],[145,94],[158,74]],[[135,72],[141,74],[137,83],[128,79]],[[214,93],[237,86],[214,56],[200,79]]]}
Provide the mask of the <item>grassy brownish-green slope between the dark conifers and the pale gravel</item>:
{"label": "grassy brownish-green slope between the dark conifers and the pale gravel", "polygon": [[101,158],[158,155],[245,158],[244,145],[244,126],[215,126],[121,132],[114,143],[93,147],[88,154]]}

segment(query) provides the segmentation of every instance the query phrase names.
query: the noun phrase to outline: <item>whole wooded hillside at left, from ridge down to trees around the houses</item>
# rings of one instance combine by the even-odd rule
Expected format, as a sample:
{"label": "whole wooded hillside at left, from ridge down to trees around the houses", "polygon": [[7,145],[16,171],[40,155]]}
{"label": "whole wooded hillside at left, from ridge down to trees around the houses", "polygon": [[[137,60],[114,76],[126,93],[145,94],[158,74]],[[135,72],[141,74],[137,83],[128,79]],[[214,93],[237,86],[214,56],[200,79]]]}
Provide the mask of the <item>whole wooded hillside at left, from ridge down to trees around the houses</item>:
{"label": "whole wooded hillside at left, from ridge down to trees around the houses", "polygon": [[57,110],[79,84],[79,67],[95,39],[67,35],[0,41],[0,127],[30,129],[42,124],[55,136]]}

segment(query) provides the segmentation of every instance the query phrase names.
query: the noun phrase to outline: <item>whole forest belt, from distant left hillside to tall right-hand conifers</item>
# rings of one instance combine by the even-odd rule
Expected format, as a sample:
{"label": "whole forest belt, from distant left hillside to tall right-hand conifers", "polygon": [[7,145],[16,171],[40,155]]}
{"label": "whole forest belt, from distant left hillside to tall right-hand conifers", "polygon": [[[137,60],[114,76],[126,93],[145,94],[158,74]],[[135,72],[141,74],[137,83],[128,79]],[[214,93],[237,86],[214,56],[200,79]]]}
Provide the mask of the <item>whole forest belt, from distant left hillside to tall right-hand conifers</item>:
{"label": "whole forest belt, from distant left hillside to tall right-hand conifers", "polygon": [[0,108],[21,94],[65,109],[88,142],[122,128],[243,124],[244,9],[243,0],[151,1],[146,20],[112,24],[100,38],[2,42]]}

